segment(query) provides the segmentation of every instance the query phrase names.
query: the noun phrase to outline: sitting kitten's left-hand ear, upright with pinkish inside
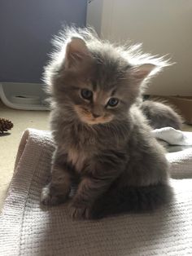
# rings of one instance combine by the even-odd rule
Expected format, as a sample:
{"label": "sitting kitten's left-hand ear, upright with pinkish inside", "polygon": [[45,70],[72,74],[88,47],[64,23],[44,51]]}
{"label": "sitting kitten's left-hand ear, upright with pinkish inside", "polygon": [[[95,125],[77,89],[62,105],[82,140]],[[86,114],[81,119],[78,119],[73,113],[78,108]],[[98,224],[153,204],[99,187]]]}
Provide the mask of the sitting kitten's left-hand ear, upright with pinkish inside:
{"label": "sitting kitten's left-hand ear, upright with pinkish inside", "polygon": [[89,55],[89,50],[83,39],[71,38],[66,46],[64,66],[65,68],[76,67]]}

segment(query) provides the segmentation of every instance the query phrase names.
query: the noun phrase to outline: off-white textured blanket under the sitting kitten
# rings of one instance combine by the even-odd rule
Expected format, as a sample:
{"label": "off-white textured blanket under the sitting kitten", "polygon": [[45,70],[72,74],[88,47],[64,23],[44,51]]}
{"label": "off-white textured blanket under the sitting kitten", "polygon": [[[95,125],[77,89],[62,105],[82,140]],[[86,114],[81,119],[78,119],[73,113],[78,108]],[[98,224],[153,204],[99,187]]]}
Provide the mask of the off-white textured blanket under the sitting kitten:
{"label": "off-white textured blanket under the sitting kitten", "polygon": [[[67,205],[41,208],[50,133],[26,130],[0,219],[0,255],[192,255],[192,149],[167,154],[173,201],[155,213],[72,221]],[[188,179],[185,179],[188,178]]]}

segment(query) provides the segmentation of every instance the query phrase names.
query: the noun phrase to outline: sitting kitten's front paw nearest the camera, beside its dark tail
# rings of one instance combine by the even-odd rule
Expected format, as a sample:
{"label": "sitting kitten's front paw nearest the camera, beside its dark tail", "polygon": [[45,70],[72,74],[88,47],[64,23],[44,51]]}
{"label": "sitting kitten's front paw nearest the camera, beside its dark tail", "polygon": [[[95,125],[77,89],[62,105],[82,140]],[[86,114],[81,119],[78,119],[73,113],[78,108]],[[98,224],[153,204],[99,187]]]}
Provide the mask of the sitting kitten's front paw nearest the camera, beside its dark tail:
{"label": "sitting kitten's front paw nearest the camera, beside its dark tail", "polygon": [[82,205],[76,206],[75,204],[69,205],[69,214],[73,219],[89,219],[90,218],[90,208]]}

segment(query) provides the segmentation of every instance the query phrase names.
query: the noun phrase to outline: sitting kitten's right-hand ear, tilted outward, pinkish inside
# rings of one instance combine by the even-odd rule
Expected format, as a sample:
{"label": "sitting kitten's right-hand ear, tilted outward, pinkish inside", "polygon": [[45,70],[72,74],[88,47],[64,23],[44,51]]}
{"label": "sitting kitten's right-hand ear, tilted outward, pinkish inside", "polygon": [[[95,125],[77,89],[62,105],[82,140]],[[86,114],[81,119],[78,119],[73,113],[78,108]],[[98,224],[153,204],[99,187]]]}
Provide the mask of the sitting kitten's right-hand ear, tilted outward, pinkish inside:
{"label": "sitting kitten's right-hand ear, tilted outward, pinkish inside", "polygon": [[139,81],[144,80],[156,68],[155,64],[142,64],[134,68],[133,77]]}

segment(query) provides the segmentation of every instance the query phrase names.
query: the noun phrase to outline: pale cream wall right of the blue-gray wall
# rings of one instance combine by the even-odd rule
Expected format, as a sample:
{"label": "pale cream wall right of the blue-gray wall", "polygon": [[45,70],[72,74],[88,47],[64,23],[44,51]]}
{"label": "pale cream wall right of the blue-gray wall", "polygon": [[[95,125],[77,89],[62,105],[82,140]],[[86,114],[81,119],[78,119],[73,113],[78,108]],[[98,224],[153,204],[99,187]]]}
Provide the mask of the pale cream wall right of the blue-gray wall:
{"label": "pale cream wall right of the blue-gray wall", "polygon": [[144,51],[169,54],[177,62],[153,80],[149,93],[192,95],[191,0],[94,0],[87,17],[101,37],[142,42]]}

